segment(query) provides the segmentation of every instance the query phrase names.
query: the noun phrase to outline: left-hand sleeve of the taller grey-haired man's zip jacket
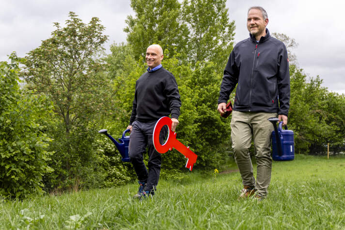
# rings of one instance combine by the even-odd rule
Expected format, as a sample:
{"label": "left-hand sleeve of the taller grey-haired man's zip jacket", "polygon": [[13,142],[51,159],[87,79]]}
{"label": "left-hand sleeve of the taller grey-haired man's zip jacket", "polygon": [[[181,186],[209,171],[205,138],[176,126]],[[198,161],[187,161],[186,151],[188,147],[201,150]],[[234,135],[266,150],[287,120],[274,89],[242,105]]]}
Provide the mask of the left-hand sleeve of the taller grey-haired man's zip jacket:
{"label": "left-hand sleeve of the taller grey-haired man's zip jacket", "polygon": [[226,103],[230,97],[231,92],[235,89],[238,82],[238,67],[235,63],[235,48],[231,51],[228,63],[225,66],[223,80],[220,85],[220,96],[218,104]]}

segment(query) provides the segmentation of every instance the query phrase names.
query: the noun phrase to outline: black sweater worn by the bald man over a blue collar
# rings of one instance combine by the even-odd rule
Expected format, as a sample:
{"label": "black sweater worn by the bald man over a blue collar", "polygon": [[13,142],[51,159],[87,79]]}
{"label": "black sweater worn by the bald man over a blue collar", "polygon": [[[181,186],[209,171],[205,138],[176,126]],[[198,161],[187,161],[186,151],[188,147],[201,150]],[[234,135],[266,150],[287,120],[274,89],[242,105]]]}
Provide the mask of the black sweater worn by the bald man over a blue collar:
{"label": "black sweater worn by the bald man over a blue collar", "polygon": [[180,107],[180,94],[173,74],[163,67],[154,72],[145,72],[135,83],[129,125],[134,120],[154,121],[169,114],[178,119]]}

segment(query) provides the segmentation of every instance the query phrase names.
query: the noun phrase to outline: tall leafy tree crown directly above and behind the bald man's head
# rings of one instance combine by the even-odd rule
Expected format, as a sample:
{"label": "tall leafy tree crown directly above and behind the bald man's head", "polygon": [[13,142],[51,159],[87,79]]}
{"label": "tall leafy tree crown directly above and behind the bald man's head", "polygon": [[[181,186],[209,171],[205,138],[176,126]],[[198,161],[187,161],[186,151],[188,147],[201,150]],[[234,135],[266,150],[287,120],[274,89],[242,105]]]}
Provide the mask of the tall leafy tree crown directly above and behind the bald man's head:
{"label": "tall leafy tree crown directly above and behind the bald man's head", "polygon": [[134,58],[143,57],[146,48],[159,44],[171,55],[181,53],[186,44],[187,28],[180,23],[181,4],[178,0],[131,0],[135,16],[127,16],[127,42]]}

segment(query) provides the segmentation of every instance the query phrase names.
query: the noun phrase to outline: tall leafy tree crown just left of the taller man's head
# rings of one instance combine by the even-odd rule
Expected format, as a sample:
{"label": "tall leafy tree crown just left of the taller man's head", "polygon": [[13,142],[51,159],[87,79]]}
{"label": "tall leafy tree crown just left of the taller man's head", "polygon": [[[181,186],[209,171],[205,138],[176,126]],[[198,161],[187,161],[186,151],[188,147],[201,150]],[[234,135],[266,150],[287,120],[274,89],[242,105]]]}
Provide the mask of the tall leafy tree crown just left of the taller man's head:
{"label": "tall leafy tree crown just left of the taller man's head", "polygon": [[198,61],[212,61],[217,69],[225,67],[235,30],[235,21],[229,20],[225,3],[226,0],[183,1],[182,20],[189,31],[185,51],[192,66]]}

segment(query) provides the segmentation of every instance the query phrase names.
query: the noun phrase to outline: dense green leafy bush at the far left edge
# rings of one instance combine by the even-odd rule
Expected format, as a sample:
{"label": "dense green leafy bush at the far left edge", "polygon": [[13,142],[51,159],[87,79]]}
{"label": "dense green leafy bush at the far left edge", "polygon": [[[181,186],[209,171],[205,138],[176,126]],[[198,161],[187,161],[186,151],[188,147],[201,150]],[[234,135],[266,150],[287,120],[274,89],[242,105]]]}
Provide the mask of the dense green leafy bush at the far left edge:
{"label": "dense green leafy bush at the far left edge", "polygon": [[48,166],[51,139],[45,133],[52,104],[42,94],[20,89],[19,60],[0,63],[0,195],[22,197],[42,192],[42,176]]}

